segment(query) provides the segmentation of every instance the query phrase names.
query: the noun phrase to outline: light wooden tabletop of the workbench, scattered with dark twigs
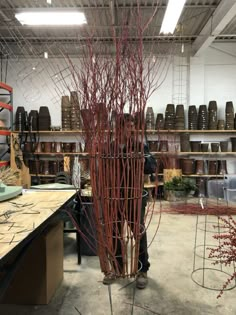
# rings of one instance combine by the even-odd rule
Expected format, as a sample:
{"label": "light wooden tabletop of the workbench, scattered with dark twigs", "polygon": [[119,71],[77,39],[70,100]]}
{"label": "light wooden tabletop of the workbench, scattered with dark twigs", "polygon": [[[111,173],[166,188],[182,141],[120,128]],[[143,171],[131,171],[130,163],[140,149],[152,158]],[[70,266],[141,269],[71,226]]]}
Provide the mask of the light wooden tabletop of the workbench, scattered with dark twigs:
{"label": "light wooden tabletop of the workbench, scattered with dark twigs", "polygon": [[75,194],[71,191],[28,191],[0,203],[0,263],[16,246]]}

